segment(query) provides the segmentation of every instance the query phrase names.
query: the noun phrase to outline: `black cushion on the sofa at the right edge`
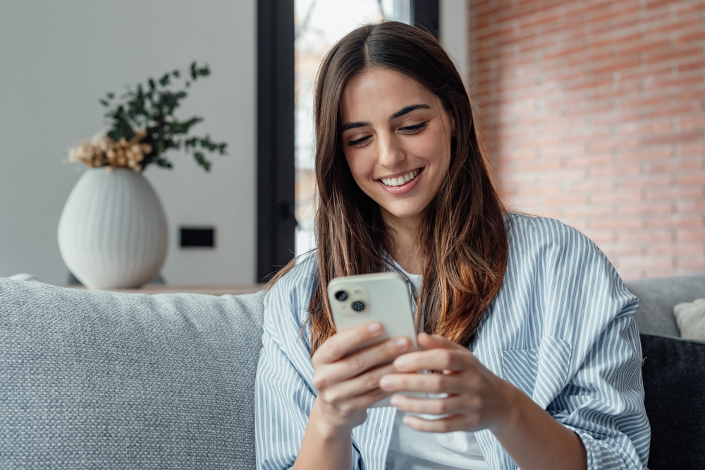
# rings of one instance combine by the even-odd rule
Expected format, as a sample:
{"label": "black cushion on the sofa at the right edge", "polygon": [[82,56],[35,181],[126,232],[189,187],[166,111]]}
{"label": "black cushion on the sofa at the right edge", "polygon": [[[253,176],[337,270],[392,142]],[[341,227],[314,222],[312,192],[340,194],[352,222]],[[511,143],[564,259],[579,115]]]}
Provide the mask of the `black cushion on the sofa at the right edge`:
{"label": "black cushion on the sofa at the right edge", "polygon": [[639,335],[650,469],[705,469],[705,343]]}

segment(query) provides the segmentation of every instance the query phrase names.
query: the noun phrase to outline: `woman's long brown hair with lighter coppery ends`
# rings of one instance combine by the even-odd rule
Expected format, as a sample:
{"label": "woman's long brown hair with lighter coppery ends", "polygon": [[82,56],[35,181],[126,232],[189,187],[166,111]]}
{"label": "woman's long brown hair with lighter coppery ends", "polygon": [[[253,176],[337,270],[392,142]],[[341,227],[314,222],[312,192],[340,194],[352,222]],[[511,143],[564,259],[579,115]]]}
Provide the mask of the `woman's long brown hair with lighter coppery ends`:
{"label": "woman's long brown hair with lighter coppery ends", "polygon": [[453,61],[429,33],[391,21],[350,32],[328,52],[319,70],[314,94],[319,283],[309,305],[311,354],[336,332],[326,298],[329,281],[388,270],[387,229],[379,206],[350,173],[340,132],[343,90],[369,68],[387,68],[417,80],[455,119],[448,174],[424,210],[419,231],[423,284],[416,318],[417,323],[423,318],[417,327],[425,332],[467,346],[507,266],[505,209],[479,150],[470,98]]}

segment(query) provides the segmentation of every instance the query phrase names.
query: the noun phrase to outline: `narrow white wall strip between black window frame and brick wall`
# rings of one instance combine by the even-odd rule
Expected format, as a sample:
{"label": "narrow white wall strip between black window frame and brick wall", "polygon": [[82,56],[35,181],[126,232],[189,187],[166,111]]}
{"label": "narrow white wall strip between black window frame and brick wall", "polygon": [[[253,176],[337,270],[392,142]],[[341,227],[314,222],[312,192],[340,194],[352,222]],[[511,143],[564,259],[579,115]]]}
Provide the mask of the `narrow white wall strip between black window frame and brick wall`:
{"label": "narrow white wall strip between black window frame and brick wall", "polygon": [[439,36],[467,87],[467,2],[439,1]]}

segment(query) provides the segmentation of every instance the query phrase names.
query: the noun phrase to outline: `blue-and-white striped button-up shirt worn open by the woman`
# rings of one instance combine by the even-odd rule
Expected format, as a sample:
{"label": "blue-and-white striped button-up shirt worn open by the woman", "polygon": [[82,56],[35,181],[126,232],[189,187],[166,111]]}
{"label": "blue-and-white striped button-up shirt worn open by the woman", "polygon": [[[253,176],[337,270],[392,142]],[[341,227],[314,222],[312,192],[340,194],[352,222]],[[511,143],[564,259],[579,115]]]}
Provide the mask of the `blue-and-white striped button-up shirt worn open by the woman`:
{"label": "blue-and-white striped button-up shirt worn open by the woman", "polygon": [[[470,345],[580,436],[590,470],[644,469],[651,432],[644,411],[638,300],[605,255],[554,219],[509,215],[503,284]],[[317,257],[283,276],[264,301],[255,382],[258,469],[289,469],[316,399],[310,332],[300,335],[317,287]],[[384,470],[396,409],[374,408],[353,429],[351,468]],[[517,466],[489,430],[475,433],[490,469]]]}

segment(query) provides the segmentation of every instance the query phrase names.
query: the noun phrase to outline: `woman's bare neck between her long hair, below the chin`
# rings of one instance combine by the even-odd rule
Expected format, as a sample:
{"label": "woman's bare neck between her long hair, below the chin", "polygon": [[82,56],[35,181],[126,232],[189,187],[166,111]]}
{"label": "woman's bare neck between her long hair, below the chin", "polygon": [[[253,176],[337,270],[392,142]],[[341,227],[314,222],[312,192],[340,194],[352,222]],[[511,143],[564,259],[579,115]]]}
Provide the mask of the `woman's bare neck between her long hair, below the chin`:
{"label": "woman's bare neck between her long hair, below the chin", "polygon": [[382,219],[391,241],[391,257],[410,274],[422,274],[423,258],[419,244],[420,217],[394,217],[382,210]]}

